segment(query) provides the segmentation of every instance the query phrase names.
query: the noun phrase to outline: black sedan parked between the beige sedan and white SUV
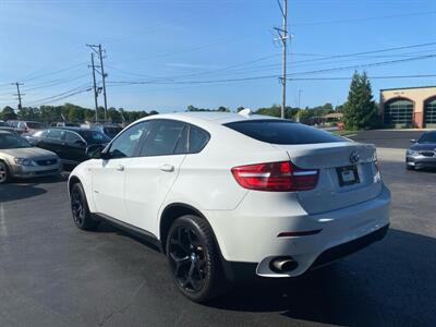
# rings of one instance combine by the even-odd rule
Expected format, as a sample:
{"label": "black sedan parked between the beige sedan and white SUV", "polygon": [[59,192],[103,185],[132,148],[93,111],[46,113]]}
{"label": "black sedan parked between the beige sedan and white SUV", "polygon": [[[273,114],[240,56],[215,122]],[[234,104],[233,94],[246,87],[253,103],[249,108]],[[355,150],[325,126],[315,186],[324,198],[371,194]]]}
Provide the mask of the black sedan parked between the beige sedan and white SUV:
{"label": "black sedan parked between the beige sedan and white SUV", "polygon": [[66,165],[77,165],[88,159],[86,148],[106,145],[110,138],[101,131],[81,128],[52,128],[26,137],[33,145],[56,153]]}

